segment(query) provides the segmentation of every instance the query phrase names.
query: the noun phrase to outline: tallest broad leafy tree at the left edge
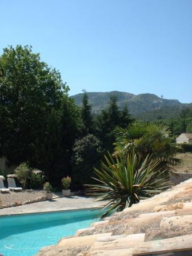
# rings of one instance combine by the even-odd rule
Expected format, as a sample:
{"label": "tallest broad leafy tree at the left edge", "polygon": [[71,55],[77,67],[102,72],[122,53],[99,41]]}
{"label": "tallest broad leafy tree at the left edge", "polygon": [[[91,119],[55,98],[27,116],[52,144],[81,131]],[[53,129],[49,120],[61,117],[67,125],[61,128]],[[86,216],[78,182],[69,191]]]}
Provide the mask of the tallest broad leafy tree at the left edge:
{"label": "tallest broad leafy tree at the left edge", "polygon": [[67,87],[29,46],[4,49],[0,74],[0,154],[18,165],[34,159],[47,118],[61,107]]}

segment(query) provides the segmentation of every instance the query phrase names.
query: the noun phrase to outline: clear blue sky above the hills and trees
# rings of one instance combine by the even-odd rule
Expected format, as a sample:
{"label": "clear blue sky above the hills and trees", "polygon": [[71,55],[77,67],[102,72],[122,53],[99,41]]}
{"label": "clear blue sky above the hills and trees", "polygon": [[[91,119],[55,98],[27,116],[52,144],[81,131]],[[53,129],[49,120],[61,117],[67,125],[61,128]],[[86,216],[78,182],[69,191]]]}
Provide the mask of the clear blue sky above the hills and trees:
{"label": "clear blue sky above the hills and trees", "polygon": [[70,95],[154,93],[192,102],[192,0],[0,0],[0,53],[32,45]]}

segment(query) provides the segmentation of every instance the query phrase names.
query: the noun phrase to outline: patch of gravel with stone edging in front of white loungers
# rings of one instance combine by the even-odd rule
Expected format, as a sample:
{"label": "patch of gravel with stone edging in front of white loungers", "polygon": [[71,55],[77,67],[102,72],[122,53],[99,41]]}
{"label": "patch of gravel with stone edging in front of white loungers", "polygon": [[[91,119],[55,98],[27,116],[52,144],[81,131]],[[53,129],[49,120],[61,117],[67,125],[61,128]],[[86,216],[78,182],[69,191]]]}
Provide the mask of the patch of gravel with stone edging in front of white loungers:
{"label": "patch of gravel with stone edging in front of white loungers", "polygon": [[2,205],[15,202],[25,202],[27,200],[35,199],[45,196],[42,190],[23,190],[21,192],[1,193],[0,202]]}

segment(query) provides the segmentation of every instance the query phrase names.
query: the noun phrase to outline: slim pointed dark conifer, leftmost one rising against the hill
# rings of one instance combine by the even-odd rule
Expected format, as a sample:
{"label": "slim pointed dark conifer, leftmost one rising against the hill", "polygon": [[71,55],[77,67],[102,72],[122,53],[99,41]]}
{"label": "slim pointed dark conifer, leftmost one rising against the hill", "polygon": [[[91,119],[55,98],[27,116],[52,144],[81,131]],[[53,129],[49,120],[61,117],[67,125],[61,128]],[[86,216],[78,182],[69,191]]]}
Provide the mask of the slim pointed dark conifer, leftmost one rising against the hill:
{"label": "slim pointed dark conifer, leftmost one rising against the hill", "polygon": [[82,107],[81,107],[81,117],[83,125],[85,126],[85,134],[93,133],[93,116],[91,114],[91,105],[88,103],[88,95],[85,90],[83,90],[82,97]]}

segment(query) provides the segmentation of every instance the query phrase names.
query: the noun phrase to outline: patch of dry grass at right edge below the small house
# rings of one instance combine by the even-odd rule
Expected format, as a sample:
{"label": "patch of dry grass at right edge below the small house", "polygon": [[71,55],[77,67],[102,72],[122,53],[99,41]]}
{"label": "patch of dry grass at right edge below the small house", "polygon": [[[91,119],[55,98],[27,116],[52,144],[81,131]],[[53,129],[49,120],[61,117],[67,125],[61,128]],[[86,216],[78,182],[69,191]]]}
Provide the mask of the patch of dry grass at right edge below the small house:
{"label": "patch of dry grass at right edge below the small house", "polygon": [[177,167],[177,173],[192,173],[192,153],[180,153],[177,157],[183,160],[183,164]]}

